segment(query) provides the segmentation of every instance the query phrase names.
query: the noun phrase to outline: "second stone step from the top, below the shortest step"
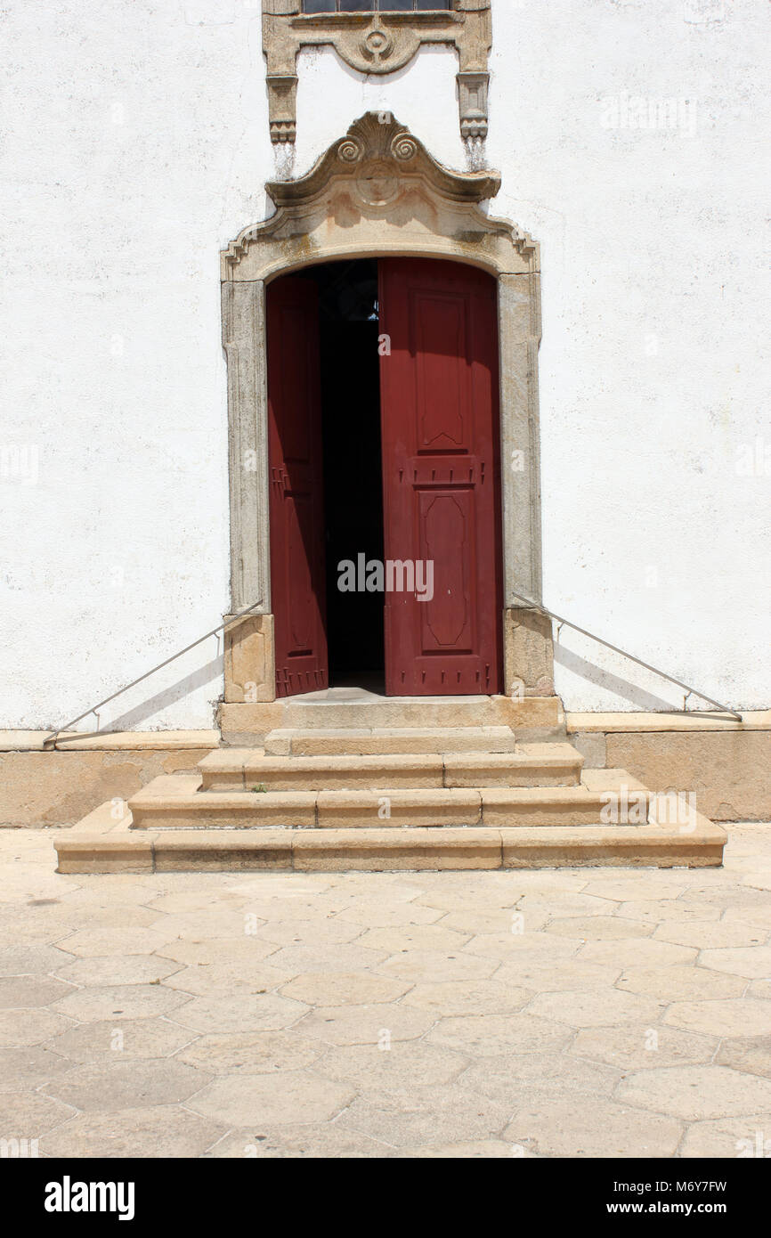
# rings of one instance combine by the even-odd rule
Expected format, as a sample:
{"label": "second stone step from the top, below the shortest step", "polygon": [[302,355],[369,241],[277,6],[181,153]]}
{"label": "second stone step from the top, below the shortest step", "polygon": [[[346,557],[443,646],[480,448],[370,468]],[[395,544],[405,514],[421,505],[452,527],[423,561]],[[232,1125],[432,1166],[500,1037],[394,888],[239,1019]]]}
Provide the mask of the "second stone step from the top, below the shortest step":
{"label": "second stone step from the top, below the shortest step", "polygon": [[203,791],[343,791],[377,787],[574,786],[583,758],[571,744],[515,753],[269,756],[220,748],[199,763]]}

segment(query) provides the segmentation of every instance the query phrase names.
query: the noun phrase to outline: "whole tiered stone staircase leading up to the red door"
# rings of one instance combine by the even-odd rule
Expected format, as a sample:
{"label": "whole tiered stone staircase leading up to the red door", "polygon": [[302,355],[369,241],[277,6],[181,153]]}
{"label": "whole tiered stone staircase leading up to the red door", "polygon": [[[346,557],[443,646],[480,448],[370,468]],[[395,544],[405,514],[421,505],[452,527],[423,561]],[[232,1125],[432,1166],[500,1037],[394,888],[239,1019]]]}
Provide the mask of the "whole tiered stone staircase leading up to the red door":
{"label": "whole tiered stone staircase leading up to the red door", "polygon": [[[301,709],[298,725],[274,711],[259,745],[219,748],[62,832],[59,872],[721,863],[723,829],[661,821],[657,797],[625,770],[584,770],[559,728],[517,742],[469,698],[442,706],[437,725],[405,725],[418,714],[403,708]],[[629,823],[608,823],[630,800]]]}

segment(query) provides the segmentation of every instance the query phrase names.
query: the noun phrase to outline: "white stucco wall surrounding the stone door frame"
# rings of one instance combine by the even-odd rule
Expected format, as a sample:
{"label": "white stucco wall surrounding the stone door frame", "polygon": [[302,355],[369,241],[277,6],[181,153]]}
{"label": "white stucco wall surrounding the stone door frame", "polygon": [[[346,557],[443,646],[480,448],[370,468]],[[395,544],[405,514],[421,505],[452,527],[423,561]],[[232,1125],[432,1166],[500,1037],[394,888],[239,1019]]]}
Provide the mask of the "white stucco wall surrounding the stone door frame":
{"label": "white stucco wall surrounding the stone door frame", "polygon": [[[766,0],[497,0],[494,30],[491,210],[542,245],[545,600],[767,707]],[[257,0],[9,0],[0,40],[0,725],[48,727],[228,609],[218,255],[274,152]],[[296,171],[369,108],[463,167],[455,71],[303,54]],[[218,652],[103,724],[210,725]],[[567,631],[557,682],[679,703]]]}

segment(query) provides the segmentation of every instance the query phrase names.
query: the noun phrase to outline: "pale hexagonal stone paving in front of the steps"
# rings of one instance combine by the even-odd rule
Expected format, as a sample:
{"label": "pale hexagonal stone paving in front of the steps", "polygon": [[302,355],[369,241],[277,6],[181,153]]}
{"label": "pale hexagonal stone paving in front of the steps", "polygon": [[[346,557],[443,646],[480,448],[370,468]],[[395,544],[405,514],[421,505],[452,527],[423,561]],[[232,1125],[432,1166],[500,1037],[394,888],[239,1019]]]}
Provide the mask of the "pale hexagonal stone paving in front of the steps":
{"label": "pale hexagonal stone paving in front of the steps", "polygon": [[771,826],[724,869],[340,875],[62,877],[53,833],[0,831],[0,1140],[771,1155]]}

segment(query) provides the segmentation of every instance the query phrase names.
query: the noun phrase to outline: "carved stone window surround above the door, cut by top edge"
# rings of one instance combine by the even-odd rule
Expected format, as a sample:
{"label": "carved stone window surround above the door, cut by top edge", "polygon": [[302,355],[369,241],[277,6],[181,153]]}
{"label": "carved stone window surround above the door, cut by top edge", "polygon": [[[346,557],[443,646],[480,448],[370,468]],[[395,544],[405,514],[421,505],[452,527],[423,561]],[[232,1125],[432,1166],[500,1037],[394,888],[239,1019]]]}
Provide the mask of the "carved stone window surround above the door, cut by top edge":
{"label": "carved stone window surround above the door, cut by top edge", "polygon": [[332,46],[359,73],[386,74],[408,64],[423,43],[458,52],[460,135],[488,135],[488,58],[493,46],[491,0],[453,0],[450,9],[407,12],[302,12],[302,0],[262,0],[262,53],[267,61],[271,141],[297,136],[297,56]]}

